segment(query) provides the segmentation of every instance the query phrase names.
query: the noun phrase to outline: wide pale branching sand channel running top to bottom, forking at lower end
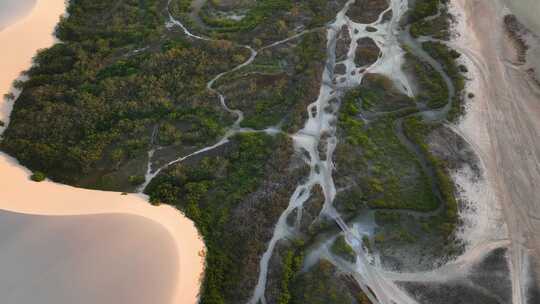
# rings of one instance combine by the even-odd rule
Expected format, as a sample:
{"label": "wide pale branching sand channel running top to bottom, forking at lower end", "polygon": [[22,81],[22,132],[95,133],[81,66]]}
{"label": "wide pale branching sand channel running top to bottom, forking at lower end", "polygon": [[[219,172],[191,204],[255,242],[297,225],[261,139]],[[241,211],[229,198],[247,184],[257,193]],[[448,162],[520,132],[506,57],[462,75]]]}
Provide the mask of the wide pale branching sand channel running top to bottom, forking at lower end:
{"label": "wide pale branching sand channel running top to bottom, forking at lower end", "polygon": [[[332,206],[336,196],[336,187],[332,176],[334,173],[333,153],[338,143],[336,122],[339,106],[335,106],[335,101],[339,101],[348,88],[360,85],[364,75],[368,72],[388,76],[397,84],[397,87],[402,88],[405,93],[411,94],[407,78],[401,70],[404,52],[399,46],[396,36],[399,26],[398,22],[407,10],[408,2],[406,0],[391,1],[389,8],[382,12],[378,20],[372,24],[355,23],[346,16],[347,10],[352,3],[354,3],[354,0],[348,1],[337,14],[335,21],[328,26],[327,62],[322,75],[319,96],[307,108],[309,118],[304,128],[292,136],[294,148],[297,151],[305,151],[309,154],[309,157],[304,158],[310,167],[309,178],[307,182],[296,188],[290,198],[288,208],[279,218],[273,237],[268,244],[266,252],[262,256],[258,283],[249,304],[266,303],[265,289],[270,258],[277,242],[292,236],[294,233],[294,227],[289,226],[286,219],[294,210],[298,210],[298,214],[301,216],[303,204],[309,199],[311,190],[315,185],[321,186],[325,197],[324,207],[320,217],[334,219],[344,231],[347,242],[355,250],[358,257],[356,265],[352,266],[353,276],[371,301],[373,303],[389,304],[393,302],[405,304],[416,303],[405,292],[397,288],[393,282],[384,278],[381,272],[368,262],[368,258],[361,246],[361,236],[357,231],[347,226]],[[392,11],[392,19],[385,22],[383,21],[383,16],[388,11]],[[335,49],[337,36],[343,26],[346,27],[354,39],[352,39],[349,45],[347,59],[340,62],[346,66],[346,73],[339,76],[334,74],[334,68],[336,66]],[[377,30],[368,31],[366,30],[368,26]],[[358,39],[364,37],[373,39],[381,49],[382,55],[374,64],[359,68],[354,64],[354,56],[358,47]],[[333,109],[333,111],[327,111],[326,109],[328,108]],[[317,149],[323,135],[326,137],[325,157],[321,157]],[[332,262],[338,267],[341,266],[338,261],[332,260]]]}

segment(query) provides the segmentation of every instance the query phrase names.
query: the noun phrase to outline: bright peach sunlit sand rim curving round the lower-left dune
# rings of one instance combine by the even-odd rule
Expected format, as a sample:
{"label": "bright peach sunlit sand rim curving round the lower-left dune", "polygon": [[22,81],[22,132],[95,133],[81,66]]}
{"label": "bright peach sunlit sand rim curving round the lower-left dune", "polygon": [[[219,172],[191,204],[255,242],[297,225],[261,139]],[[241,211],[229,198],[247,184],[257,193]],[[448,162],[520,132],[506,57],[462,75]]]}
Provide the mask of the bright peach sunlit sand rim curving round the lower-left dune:
{"label": "bright peach sunlit sand rim curving round the lower-left dune", "polygon": [[[163,232],[165,234],[168,232],[172,236],[178,255],[177,265],[174,261],[167,260],[171,257],[170,253],[164,252],[164,256],[161,256],[158,252],[154,257],[163,259],[163,264],[169,265],[168,267],[179,276],[174,284],[174,300],[165,303],[197,303],[199,280],[204,265],[201,254],[204,244],[193,222],[185,218],[178,210],[166,205],[151,206],[147,202],[147,197],[143,195],[121,195],[117,192],[86,190],[49,181],[36,183],[29,180],[29,174],[30,172],[21,168],[15,159],[0,154],[0,209],[31,215],[136,215],[144,217],[147,222],[159,223],[163,227]],[[111,223],[113,224],[117,225]],[[134,225],[131,226],[134,227]],[[77,231],[76,226],[74,226],[74,231]],[[133,229],[131,232],[125,230],[124,236],[127,237],[131,233],[137,234],[138,230]],[[118,239],[120,238],[122,238],[121,235],[118,236]],[[0,248],[2,243],[3,240],[0,239]],[[147,246],[152,246],[152,244],[148,243]],[[116,255],[114,247],[109,250],[107,254]],[[35,258],[40,257],[40,252],[35,252],[35,254]],[[168,271],[165,271],[165,277],[169,277],[167,273]],[[0,272],[0,278],[4,274],[6,274],[4,271]],[[72,273],[72,275],[76,274]],[[137,289],[132,289],[132,292],[135,295],[139,294]],[[160,295],[155,296],[159,298]],[[160,304],[160,302],[148,303]]]}

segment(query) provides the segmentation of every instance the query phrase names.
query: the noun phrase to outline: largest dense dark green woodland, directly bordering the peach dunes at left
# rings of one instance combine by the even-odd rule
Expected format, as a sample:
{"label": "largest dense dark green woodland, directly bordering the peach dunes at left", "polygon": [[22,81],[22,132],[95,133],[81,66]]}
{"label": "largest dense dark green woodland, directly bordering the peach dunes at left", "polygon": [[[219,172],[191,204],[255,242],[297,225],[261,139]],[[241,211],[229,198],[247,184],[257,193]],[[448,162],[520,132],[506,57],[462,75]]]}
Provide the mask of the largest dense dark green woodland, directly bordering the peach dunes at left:
{"label": "largest dense dark green woodland, directly bordering the peach dunes at left", "polygon": [[[57,30],[64,43],[41,51],[18,83],[2,148],[54,180],[121,190],[130,189],[127,176],[144,173],[156,124],[160,144],[201,146],[223,134],[232,117],[206,82],[247,50],[163,36],[161,1],[114,3],[69,6]],[[112,174],[123,184],[108,181]]]}

